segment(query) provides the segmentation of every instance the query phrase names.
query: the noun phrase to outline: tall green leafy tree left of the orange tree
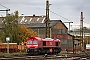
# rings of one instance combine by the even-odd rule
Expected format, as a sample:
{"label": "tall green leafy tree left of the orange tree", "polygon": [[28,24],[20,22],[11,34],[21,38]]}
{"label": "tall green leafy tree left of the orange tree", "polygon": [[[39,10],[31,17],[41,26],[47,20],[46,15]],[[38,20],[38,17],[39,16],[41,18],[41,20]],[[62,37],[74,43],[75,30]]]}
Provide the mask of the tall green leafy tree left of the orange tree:
{"label": "tall green leafy tree left of the orange tree", "polygon": [[3,35],[5,36],[4,42],[6,40],[6,37],[10,37],[10,42],[17,42],[18,39],[18,11],[15,11],[15,13],[8,14],[6,17],[3,17],[3,24],[2,24],[2,30]]}

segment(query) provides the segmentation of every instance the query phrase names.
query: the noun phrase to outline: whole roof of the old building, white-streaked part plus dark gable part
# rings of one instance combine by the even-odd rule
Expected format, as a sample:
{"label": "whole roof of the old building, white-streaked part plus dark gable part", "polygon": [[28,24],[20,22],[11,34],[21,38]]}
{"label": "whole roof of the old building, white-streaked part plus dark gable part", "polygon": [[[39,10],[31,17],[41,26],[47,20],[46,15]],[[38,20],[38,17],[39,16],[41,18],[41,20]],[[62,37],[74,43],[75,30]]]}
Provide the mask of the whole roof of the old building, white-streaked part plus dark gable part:
{"label": "whole roof of the old building, white-streaked part plus dark gable part", "polygon": [[[34,27],[46,27],[45,19],[46,19],[46,16],[35,16],[35,15],[20,16],[18,18],[18,24],[25,24],[25,25],[28,25],[29,27],[33,27],[33,28]],[[50,27],[54,26],[58,22],[61,22],[65,26],[65,24],[61,20],[50,20]],[[0,17],[0,24],[2,24],[2,17]]]}

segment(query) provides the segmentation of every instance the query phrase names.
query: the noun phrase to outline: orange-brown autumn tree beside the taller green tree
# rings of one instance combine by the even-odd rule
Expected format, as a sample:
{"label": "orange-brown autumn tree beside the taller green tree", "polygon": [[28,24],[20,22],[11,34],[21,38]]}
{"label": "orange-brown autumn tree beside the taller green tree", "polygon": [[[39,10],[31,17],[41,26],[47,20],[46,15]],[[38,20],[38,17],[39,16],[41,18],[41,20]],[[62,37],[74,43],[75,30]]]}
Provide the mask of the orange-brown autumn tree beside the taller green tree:
{"label": "orange-brown autumn tree beside the taller green tree", "polygon": [[19,29],[18,36],[21,42],[26,42],[27,38],[29,38],[30,36],[37,36],[37,33],[32,29],[28,28],[27,25],[19,25],[18,29]]}

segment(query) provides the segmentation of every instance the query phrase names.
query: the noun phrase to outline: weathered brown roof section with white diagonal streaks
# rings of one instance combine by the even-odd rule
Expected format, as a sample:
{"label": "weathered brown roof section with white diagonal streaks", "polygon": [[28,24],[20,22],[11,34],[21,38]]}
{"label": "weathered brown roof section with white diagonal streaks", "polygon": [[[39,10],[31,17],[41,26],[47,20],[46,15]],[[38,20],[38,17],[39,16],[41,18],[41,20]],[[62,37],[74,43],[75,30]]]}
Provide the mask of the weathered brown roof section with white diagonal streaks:
{"label": "weathered brown roof section with white diagonal streaks", "polygon": [[19,24],[30,24],[30,23],[43,23],[45,16],[20,16],[18,19]]}

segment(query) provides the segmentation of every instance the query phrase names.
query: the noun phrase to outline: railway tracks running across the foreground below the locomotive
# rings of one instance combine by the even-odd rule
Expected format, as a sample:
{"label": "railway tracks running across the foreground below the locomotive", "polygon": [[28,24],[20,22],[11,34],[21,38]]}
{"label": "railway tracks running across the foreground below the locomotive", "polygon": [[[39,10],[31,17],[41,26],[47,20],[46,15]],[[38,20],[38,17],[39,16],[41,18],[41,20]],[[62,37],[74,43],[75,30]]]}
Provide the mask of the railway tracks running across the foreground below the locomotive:
{"label": "railway tracks running across the foreground below the locomotive", "polygon": [[88,55],[80,55],[80,54],[64,54],[64,55],[15,55],[11,57],[2,56],[0,60],[90,60],[90,56]]}

